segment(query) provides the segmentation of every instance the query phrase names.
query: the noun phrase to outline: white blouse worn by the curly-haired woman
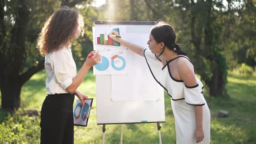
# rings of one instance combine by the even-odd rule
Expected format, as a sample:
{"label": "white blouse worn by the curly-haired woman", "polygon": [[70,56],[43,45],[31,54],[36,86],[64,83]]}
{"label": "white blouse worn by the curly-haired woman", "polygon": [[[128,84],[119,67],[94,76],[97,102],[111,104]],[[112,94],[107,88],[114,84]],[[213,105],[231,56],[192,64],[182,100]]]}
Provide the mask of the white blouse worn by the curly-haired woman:
{"label": "white blouse worn by the curly-haired woman", "polygon": [[76,65],[71,49],[62,46],[62,49],[52,51],[45,56],[47,95],[69,93],[66,88],[72,84],[76,75]]}

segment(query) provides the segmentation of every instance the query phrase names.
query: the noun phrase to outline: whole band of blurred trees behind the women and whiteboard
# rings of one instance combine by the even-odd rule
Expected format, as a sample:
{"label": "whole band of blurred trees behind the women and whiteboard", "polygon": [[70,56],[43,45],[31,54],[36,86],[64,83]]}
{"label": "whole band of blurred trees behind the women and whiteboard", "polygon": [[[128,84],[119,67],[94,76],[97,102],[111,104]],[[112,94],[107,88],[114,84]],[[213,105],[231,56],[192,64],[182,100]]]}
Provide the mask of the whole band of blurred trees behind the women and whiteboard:
{"label": "whole band of blurred trees behind the women and whiteboard", "polygon": [[20,107],[20,89],[44,69],[36,49],[43,23],[60,6],[78,9],[85,35],[74,40],[78,67],[92,51],[95,20],[157,21],[174,26],[177,43],[192,60],[210,96],[226,96],[227,70],[250,74],[256,66],[256,0],[1,0],[0,90],[2,108]]}

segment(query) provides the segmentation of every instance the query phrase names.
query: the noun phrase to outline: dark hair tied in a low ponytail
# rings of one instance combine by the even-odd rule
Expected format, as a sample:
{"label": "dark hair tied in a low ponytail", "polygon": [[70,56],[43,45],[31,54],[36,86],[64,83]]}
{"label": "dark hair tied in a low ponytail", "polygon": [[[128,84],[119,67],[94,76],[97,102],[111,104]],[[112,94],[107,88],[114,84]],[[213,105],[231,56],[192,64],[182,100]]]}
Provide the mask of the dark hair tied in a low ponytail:
{"label": "dark hair tied in a low ponytail", "polygon": [[165,47],[174,52],[177,52],[178,55],[187,56],[187,53],[181,49],[180,45],[175,43],[176,34],[171,25],[163,21],[159,21],[151,29],[151,35],[154,37],[157,43],[164,43],[163,51],[159,56],[164,52]]}

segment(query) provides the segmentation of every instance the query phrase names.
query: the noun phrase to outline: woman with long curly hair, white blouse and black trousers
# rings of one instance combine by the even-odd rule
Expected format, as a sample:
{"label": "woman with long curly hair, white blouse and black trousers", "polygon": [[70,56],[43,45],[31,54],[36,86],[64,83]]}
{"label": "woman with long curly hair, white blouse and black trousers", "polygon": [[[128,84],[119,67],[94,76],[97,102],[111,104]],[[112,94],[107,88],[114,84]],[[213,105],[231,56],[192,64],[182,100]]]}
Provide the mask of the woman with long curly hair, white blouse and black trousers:
{"label": "woman with long curly hair, white blouse and black trousers", "polygon": [[87,58],[76,74],[70,45],[72,39],[83,35],[83,26],[83,17],[77,10],[62,7],[49,17],[39,34],[37,48],[45,56],[47,89],[41,110],[41,144],[74,143],[74,95],[82,103],[88,98],[76,89],[100,59],[98,53]]}

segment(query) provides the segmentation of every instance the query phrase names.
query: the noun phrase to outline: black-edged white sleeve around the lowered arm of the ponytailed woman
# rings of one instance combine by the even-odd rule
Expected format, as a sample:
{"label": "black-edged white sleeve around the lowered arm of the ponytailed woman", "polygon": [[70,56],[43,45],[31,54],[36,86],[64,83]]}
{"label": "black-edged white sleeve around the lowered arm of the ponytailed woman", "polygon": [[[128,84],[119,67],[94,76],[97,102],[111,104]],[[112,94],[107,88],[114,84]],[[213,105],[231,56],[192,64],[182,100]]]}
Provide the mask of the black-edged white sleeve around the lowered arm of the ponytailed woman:
{"label": "black-edged white sleeve around the lowered arm of the ponytailed woman", "polygon": [[184,98],[187,104],[204,105],[201,92],[202,92],[202,88],[200,87],[199,84],[189,87],[184,83]]}

